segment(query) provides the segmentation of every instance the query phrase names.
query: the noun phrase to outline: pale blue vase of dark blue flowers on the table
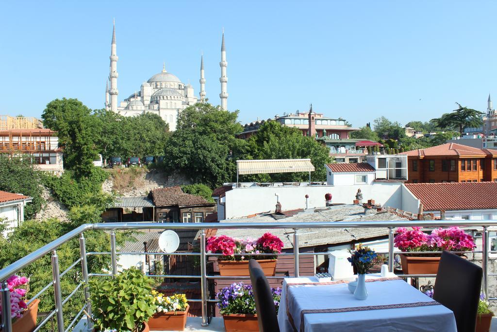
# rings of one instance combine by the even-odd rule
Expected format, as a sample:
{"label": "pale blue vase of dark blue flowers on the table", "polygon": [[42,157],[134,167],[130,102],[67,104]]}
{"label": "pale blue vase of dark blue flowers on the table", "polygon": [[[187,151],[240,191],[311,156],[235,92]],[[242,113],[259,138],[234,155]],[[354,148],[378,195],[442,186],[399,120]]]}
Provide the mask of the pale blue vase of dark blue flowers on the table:
{"label": "pale blue vase of dark blue flowers on the table", "polygon": [[369,247],[363,247],[360,243],[357,249],[352,252],[352,256],[347,260],[357,269],[357,287],[354,291],[354,297],[357,300],[366,300],[368,292],[366,290],[366,273],[376,263],[380,262],[378,254]]}

